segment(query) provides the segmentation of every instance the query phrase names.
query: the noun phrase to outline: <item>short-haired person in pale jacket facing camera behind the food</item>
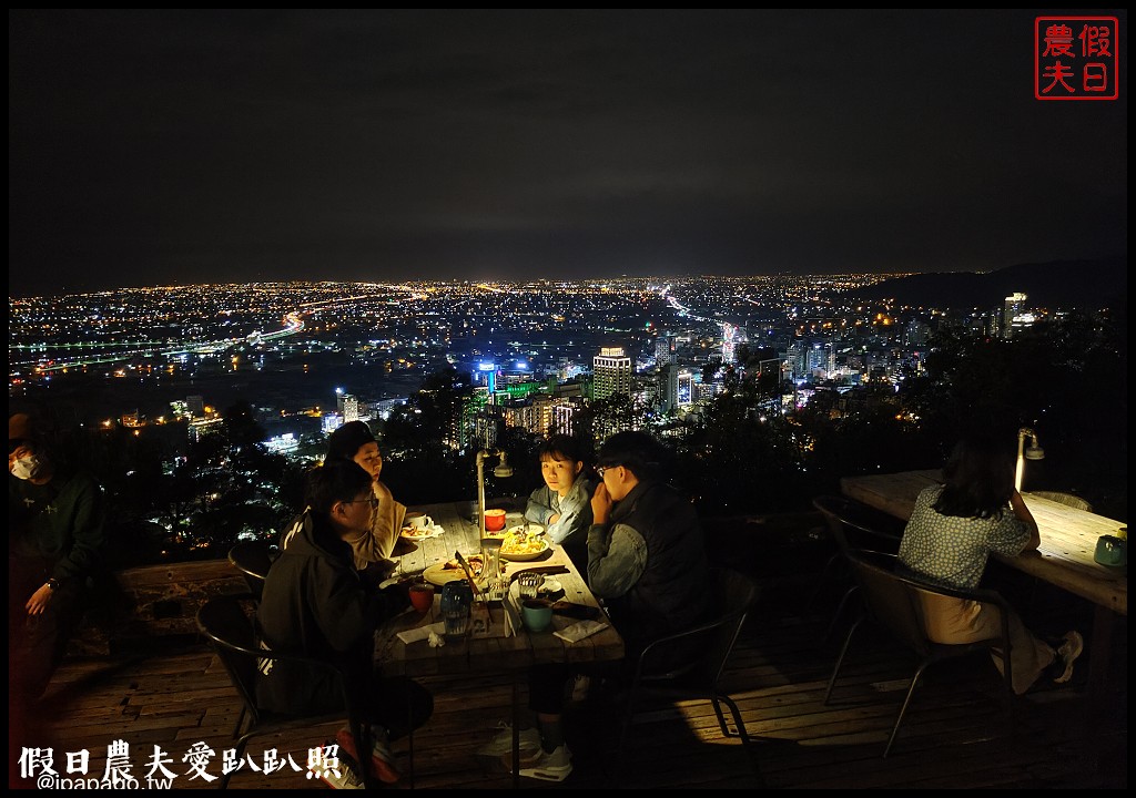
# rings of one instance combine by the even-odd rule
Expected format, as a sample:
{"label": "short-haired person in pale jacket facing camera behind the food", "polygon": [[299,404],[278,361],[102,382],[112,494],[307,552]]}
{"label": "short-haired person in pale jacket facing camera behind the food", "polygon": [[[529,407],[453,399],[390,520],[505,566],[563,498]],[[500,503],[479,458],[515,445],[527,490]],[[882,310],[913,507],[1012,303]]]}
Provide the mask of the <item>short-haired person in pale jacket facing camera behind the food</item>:
{"label": "short-haired person in pale jacket facing camera behind the food", "polygon": [[538,455],[544,486],[528,497],[525,518],[543,524],[549,540],[562,546],[585,573],[596,482],[585,472],[584,446],[567,435],[553,435],[541,444]]}

